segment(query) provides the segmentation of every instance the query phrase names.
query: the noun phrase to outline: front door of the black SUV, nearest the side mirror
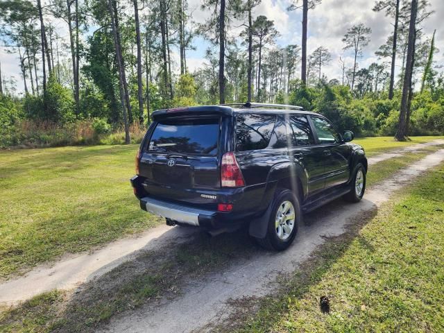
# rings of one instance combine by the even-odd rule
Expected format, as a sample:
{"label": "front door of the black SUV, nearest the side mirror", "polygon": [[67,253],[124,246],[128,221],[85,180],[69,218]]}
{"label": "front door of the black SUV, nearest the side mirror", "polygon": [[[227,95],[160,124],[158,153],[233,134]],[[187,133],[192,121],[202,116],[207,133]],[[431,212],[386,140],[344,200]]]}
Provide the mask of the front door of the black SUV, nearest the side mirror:
{"label": "front door of the black SUV, nearest the side mirror", "polygon": [[310,117],[318,138],[319,151],[325,161],[325,189],[347,182],[350,176],[351,147],[343,143],[341,135],[330,121],[322,117]]}

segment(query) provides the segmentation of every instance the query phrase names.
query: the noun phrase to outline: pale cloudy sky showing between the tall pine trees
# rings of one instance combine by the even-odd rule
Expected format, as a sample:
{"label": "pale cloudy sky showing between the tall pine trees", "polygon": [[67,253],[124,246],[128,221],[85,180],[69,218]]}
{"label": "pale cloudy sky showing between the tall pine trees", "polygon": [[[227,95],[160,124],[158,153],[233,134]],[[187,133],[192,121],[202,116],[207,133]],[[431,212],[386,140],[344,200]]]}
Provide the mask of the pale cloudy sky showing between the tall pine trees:
{"label": "pale cloudy sky showing between the tall pine trees", "polygon": [[[434,14],[422,24],[422,31],[427,37],[431,37],[436,29],[435,46],[440,50],[435,53],[434,60],[438,65],[444,65],[444,0],[430,0],[430,9]],[[193,26],[205,22],[210,12],[200,9],[200,0],[188,0],[189,12]],[[363,50],[359,59],[359,67],[368,67],[377,60],[375,51],[386,42],[388,35],[393,33],[391,19],[384,12],[373,12],[373,0],[323,0],[316,8],[309,10],[307,52],[310,54],[318,46],[326,47],[332,54],[332,61],[323,68],[323,74],[329,79],[340,78],[339,56],[345,59],[345,65],[352,67],[352,51],[343,51],[343,35],[348,28],[355,24],[364,23],[372,29],[371,41]],[[276,40],[278,46],[287,44],[301,44],[302,10],[287,11],[291,1],[287,0],[262,0],[254,9],[253,19],[258,15],[265,15],[273,20],[275,28],[280,36]],[[63,22],[56,22],[61,35],[67,36],[67,29]],[[234,29],[230,33],[239,35],[241,28]],[[208,47],[214,47],[203,37],[196,37],[193,42],[196,50],[187,51],[187,65],[193,72],[201,67],[205,60],[205,51]],[[173,60],[176,71],[178,70],[178,51],[173,51]],[[1,72],[3,76],[14,76],[17,80],[17,92],[22,92],[24,87],[19,75],[19,60],[15,54],[6,53],[6,48],[0,47]],[[400,61],[397,63],[397,71],[400,69]]]}

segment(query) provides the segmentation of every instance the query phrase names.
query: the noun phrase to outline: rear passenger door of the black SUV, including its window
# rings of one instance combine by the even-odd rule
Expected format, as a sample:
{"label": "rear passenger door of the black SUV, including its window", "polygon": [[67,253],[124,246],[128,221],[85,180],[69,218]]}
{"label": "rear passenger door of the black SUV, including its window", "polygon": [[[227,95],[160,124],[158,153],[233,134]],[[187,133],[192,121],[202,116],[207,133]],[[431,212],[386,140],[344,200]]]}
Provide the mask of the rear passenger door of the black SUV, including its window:
{"label": "rear passenger door of the black SUV, including its window", "polygon": [[324,188],[323,148],[316,146],[314,133],[305,115],[289,117],[289,154],[307,173],[308,196]]}

